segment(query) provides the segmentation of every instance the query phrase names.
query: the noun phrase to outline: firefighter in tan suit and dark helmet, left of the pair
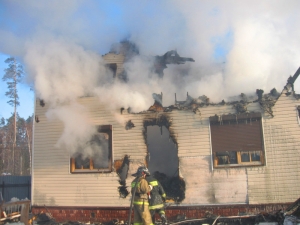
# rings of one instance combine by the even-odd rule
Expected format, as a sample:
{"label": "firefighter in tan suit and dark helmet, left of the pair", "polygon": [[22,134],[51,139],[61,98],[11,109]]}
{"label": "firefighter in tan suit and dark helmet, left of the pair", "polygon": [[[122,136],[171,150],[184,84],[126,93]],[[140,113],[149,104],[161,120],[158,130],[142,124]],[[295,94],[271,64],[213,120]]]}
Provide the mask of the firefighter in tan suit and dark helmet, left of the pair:
{"label": "firefighter in tan suit and dark helmet, left of the pair", "polygon": [[153,225],[148,202],[148,193],[152,186],[145,179],[150,172],[145,166],[140,166],[135,174],[136,178],[131,183],[131,194],[133,196],[133,225]]}

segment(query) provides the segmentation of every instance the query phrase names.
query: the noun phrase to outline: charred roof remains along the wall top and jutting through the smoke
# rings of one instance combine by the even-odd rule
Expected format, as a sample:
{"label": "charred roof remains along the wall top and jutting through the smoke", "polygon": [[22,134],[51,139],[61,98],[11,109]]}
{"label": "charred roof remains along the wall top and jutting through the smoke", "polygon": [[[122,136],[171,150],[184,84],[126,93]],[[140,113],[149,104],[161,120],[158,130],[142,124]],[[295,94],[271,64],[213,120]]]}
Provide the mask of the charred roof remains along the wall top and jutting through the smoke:
{"label": "charred roof remains along the wall top and jutting through the smoke", "polygon": [[[120,55],[119,61],[123,64],[128,60],[132,59],[134,56],[139,55],[138,47],[128,41],[121,41],[119,44],[115,44],[112,46],[111,51],[108,54]],[[108,54],[104,56],[104,58],[109,58]],[[153,57],[153,67],[152,72],[156,73],[159,78],[163,78],[164,69],[167,68],[167,64],[184,64],[186,62],[195,62],[192,58],[181,57],[175,50],[171,50],[166,52],[164,55]],[[114,65],[109,64],[110,68],[115,68]],[[296,94],[294,91],[294,82],[298,78],[300,74],[300,68],[296,71],[293,76],[290,76],[287,80],[287,84],[285,85],[283,90],[286,90],[286,95],[293,95],[296,99],[300,99],[300,95]],[[120,70],[115,68],[114,76],[119,80],[128,81],[127,72],[123,69],[123,65]],[[256,90],[257,97],[253,98],[253,96],[246,96],[244,93],[240,94],[240,100],[225,102],[222,100],[219,103],[212,103],[210,99],[203,95],[198,98],[194,98],[187,93],[187,97],[184,101],[178,101],[176,99],[175,93],[175,104],[170,106],[163,106],[163,93],[153,93],[152,97],[154,99],[154,104],[149,107],[148,110],[140,112],[169,112],[172,110],[190,110],[194,113],[200,114],[200,108],[209,105],[232,105],[236,110],[236,114],[240,113],[249,113],[247,106],[251,103],[258,102],[262,111],[269,115],[270,117],[274,117],[273,115],[273,106],[275,105],[277,99],[283,92],[279,93],[275,88],[273,88],[269,93],[264,94],[264,91],[261,89]]]}

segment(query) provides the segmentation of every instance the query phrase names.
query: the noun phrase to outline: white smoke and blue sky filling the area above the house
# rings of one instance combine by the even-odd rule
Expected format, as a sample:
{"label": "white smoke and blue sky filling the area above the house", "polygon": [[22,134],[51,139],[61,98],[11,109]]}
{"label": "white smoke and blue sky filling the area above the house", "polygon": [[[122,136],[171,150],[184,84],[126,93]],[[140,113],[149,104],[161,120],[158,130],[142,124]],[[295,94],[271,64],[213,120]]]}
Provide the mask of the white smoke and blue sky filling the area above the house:
{"label": "white smoke and blue sky filling the area above the house", "polygon": [[[75,132],[69,120],[85,121],[86,114],[62,116],[58,104],[68,102],[72,109],[80,96],[99,96],[111,110],[138,112],[153,104],[153,93],[162,92],[168,106],[174,93],[178,100],[188,92],[220,102],[242,92],[255,95],[256,89],[281,91],[300,66],[299,6],[297,0],[4,0],[0,52],[23,62],[36,96],[51,105],[49,115],[64,121],[61,143]],[[125,65],[127,83],[114,80],[101,57],[124,39],[140,52]],[[195,62],[168,66],[159,79],[150,58],[169,50]]]}

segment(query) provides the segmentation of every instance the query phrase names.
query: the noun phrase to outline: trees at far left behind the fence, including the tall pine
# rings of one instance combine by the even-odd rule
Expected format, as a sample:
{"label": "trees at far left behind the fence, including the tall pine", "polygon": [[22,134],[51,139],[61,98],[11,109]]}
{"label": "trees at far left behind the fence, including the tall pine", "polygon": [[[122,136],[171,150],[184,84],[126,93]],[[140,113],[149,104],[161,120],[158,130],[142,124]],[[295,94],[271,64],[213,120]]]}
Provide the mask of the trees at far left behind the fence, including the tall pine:
{"label": "trees at far left behind the fence, including the tall pine", "polygon": [[21,118],[17,113],[20,105],[18,83],[24,75],[23,67],[14,57],[5,60],[2,80],[7,84],[5,95],[13,107],[12,116],[0,121],[0,173],[2,175],[30,175],[33,116]]}

